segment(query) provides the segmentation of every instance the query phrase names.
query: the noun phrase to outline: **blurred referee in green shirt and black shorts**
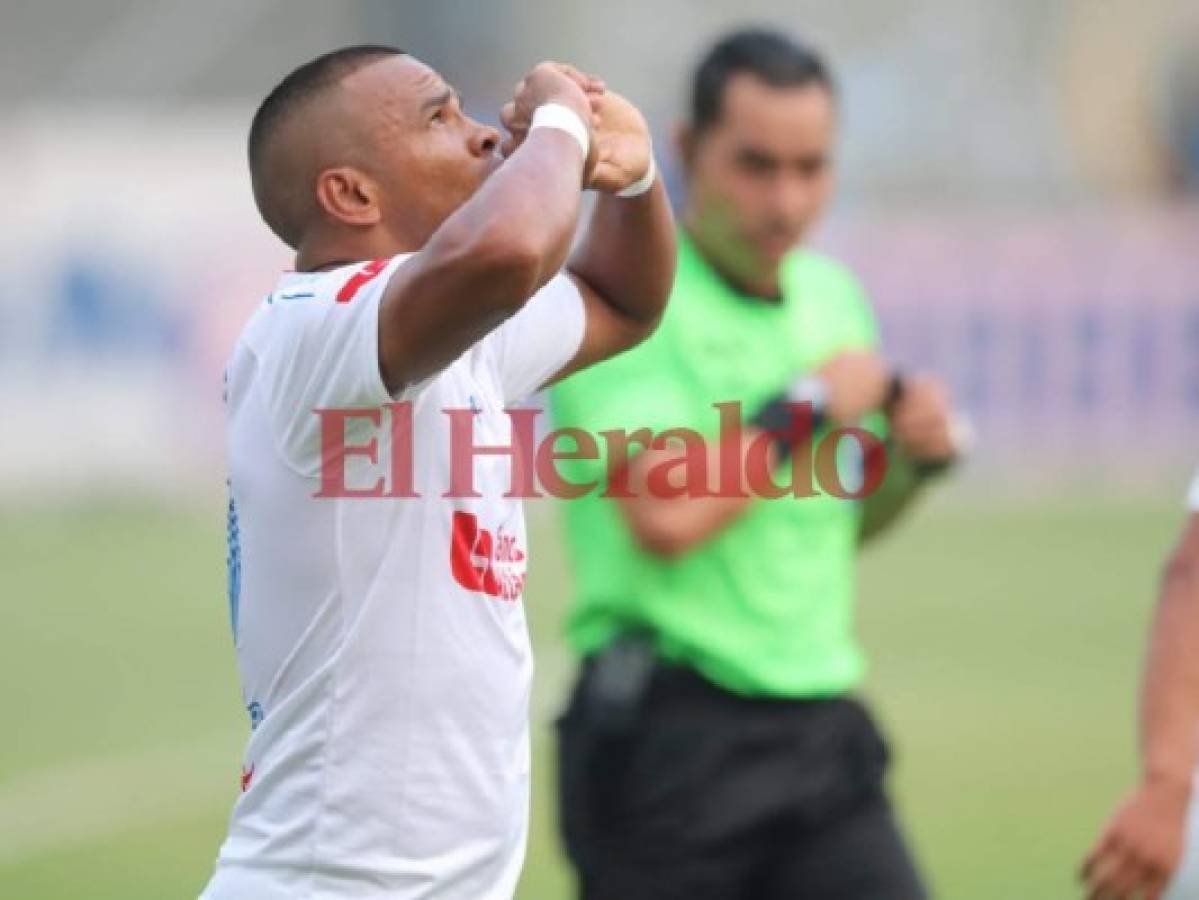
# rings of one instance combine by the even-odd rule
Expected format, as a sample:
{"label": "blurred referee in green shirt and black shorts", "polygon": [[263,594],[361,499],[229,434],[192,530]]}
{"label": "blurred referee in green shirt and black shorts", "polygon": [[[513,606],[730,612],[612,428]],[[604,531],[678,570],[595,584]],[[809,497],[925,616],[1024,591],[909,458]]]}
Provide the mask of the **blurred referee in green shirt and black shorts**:
{"label": "blurred referee in green shirt and black shorts", "polygon": [[[858,422],[890,435],[862,503],[655,488],[655,467],[694,463],[669,442],[633,458],[631,497],[566,503],[585,662],[560,721],[561,826],[588,900],[924,896],[852,696],[854,568],[954,442],[940,383],[888,374],[852,276],[799,248],[831,193],[836,113],[811,49],[759,30],[719,41],[679,134],[688,201],[663,322],[554,389],[555,424],[592,434],[713,437],[712,404],[737,401],[743,439],[775,434],[779,466],[811,452],[789,401],[811,404],[817,441]],[[716,472],[716,441],[698,449]]]}

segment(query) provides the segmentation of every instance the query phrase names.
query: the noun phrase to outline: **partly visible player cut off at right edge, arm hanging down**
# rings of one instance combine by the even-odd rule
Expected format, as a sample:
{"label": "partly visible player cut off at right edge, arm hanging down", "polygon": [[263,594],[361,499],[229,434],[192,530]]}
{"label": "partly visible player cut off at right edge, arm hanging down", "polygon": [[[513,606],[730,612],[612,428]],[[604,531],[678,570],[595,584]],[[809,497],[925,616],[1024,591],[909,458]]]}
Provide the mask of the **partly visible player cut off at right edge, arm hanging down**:
{"label": "partly visible player cut off at right edge, arm hanging down", "polygon": [[1187,505],[1186,527],[1162,572],[1149,641],[1140,784],[1083,864],[1091,900],[1199,898],[1199,804],[1192,802],[1199,763],[1199,476]]}

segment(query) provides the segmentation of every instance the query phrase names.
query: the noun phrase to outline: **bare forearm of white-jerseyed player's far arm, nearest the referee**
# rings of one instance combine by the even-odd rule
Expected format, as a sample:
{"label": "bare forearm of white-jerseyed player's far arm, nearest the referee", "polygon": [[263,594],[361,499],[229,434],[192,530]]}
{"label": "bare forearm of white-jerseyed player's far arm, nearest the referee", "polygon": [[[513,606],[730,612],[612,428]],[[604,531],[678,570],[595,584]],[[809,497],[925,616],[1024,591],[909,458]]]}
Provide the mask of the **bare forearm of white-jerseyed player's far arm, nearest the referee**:
{"label": "bare forearm of white-jerseyed player's far arm, nearest the referee", "polygon": [[635,198],[600,194],[568,268],[586,282],[638,337],[665,308],[675,270],[674,216],[662,180]]}

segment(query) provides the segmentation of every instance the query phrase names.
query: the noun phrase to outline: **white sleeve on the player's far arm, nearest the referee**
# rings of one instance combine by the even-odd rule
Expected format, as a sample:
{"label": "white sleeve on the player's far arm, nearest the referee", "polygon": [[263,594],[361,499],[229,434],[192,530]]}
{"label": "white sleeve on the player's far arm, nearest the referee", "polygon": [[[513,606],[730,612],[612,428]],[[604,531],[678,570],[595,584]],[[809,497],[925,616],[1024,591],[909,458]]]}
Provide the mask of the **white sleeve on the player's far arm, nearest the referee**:
{"label": "white sleeve on the player's far arm, nearest the referee", "polygon": [[570,276],[554,276],[520,310],[488,334],[504,399],[536,393],[574,358],[583,345],[586,312]]}

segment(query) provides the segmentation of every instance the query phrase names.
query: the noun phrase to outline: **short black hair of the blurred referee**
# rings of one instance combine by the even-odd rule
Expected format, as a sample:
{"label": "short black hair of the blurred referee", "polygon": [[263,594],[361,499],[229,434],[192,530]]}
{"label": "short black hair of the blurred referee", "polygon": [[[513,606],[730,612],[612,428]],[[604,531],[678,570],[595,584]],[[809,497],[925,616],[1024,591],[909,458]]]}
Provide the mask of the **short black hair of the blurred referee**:
{"label": "short black hair of the blurred referee", "polygon": [[815,84],[836,93],[824,58],[801,41],[771,29],[733,31],[699,61],[691,84],[691,126],[701,132],[718,121],[734,75],[748,73],[772,87]]}

